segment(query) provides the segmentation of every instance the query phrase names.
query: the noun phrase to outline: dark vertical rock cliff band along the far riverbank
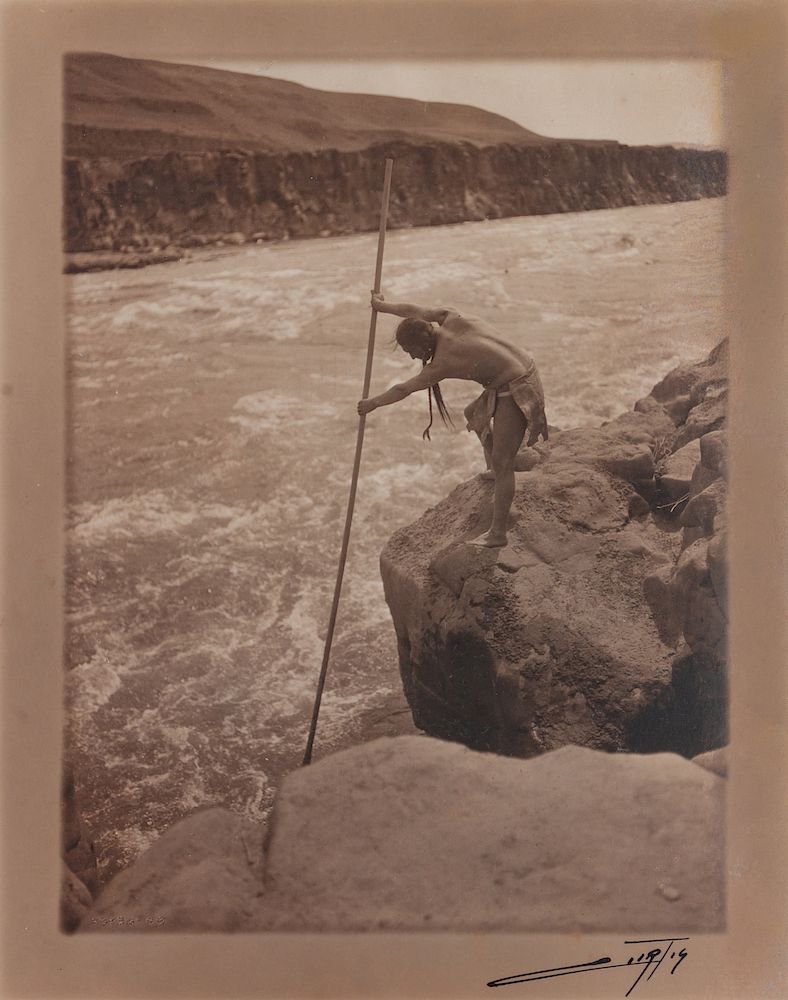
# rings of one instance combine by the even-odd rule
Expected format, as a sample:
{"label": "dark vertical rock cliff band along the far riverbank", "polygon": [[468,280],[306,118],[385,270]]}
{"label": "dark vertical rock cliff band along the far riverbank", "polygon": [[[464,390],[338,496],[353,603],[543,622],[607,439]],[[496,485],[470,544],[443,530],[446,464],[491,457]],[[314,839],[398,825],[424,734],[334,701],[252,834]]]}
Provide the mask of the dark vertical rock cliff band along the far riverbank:
{"label": "dark vertical rock cliff band along the far riverbank", "polygon": [[387,156],[392,228],[687,201],[726,184],[719,151],[550,140],[67,157],[65,247],[128,253],[373,230]]}

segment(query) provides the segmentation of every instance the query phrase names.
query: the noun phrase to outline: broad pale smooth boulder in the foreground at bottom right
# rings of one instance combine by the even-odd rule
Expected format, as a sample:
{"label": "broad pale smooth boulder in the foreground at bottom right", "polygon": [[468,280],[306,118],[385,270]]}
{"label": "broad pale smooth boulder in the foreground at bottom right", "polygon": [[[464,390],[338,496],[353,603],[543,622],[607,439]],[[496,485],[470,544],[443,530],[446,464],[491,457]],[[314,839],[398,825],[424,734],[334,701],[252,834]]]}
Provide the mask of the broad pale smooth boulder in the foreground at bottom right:
{"label": "broad pale smooth boulder in the foreground at bottom right", "polygon": [[376,740],[285,780],[253,929],[719,931],[724,787],[673,754]]}

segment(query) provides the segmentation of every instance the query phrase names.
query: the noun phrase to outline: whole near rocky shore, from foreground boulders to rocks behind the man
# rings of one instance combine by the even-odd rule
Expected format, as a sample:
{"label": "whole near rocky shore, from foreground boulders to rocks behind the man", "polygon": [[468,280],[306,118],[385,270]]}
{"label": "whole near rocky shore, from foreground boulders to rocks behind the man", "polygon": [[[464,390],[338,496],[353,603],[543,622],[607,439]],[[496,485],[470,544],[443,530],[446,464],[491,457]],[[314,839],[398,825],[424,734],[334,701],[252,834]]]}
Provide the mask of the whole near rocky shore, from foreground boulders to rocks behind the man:
{"label": "whole near rocky shore, from foreground boulders to rocks behind the man", "polygon": [[720,930],[727,390],[723,341],[524,452],[505,549],[465,544],[489,516],[478,478],[392,536],[426,735],[378,720],[288,776],[265,830],[197,811],[95,902],[68,781],[64,929]]}

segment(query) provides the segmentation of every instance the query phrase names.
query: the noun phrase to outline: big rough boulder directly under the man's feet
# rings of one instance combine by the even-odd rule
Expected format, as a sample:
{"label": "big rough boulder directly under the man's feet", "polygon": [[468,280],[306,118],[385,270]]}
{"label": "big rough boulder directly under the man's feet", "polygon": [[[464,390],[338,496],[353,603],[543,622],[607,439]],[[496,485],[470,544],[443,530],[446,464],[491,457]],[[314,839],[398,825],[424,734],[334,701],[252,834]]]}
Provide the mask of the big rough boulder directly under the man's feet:
{"label": "big rough boulder directly under the man's feet", "polygon": [[674,653],[642,582],[672,562],[676,535],[634,523],[636,493],[621,480],[546,462],[519,485],[510,544],[479,548],[466,540],[491,494],[463,484],[382,556],[416,725],[521,755],[636,746]]}

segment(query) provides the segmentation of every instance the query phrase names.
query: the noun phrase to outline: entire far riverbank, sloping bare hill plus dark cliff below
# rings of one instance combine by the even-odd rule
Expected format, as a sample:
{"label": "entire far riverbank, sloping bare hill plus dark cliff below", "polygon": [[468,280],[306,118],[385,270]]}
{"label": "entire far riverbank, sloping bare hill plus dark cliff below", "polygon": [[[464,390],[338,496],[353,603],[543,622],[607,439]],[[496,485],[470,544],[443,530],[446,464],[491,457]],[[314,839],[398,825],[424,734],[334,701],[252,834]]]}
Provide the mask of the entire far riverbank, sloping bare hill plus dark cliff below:
{"label": "entire far riverbank, sloping bare hill plus dark cliff below", "polygon": [[387,156],[394,228],[686,201],[726,185],[721,151],[548,138],[465,105],[102,53],[67,56],[64,110],[65,249],[140,263],[220,240],[374,230]]}

